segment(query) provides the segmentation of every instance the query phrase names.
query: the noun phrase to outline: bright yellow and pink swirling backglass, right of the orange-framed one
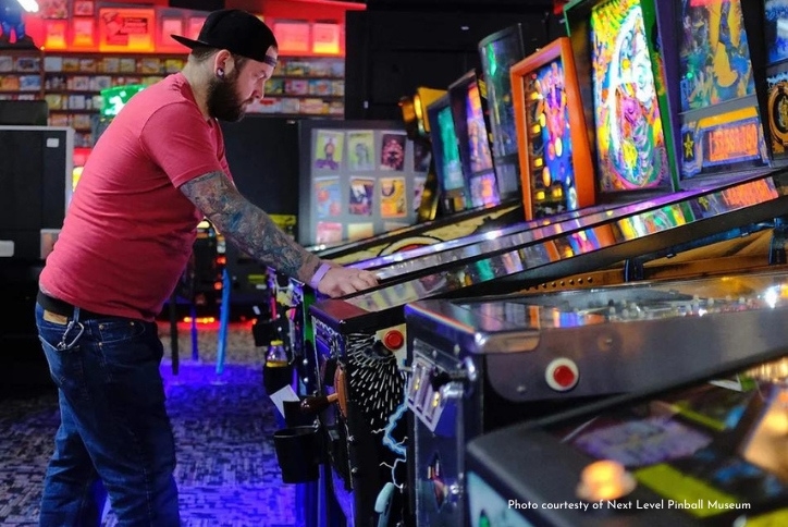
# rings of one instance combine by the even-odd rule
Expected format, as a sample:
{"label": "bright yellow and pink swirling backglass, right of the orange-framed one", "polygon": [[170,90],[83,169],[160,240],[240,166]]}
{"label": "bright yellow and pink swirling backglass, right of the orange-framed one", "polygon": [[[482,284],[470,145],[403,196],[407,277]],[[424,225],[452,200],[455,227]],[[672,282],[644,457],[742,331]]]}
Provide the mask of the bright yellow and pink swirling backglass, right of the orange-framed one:
{"label": "bright yellow and pink swirling backglass, right of the orange-framed one", "polygon": [[657,97],[653,0],[576,0],[564,12],[578,70],[591,78],[584,102],[593,109],[600,194],[669,191],[675,164],[667,99]]}

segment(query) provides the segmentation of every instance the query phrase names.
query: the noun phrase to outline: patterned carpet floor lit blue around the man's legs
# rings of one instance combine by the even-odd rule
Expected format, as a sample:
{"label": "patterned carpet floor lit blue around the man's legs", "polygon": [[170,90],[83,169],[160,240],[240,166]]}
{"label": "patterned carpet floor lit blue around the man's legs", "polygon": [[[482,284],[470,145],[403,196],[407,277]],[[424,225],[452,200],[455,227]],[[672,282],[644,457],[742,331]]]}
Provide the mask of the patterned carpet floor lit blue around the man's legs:
{"label": "patterned carpet floor lit blue around the man's legs", "polygon": [[[167,330],[167,331],[164,331]],[[169,328],[160,327],[165,345]],[[177,376],[162,365],[177,443],[183,525],[295,527],[296,486],[283,485],[272,436],[275,408],[262,388],[262,351],[248,324],[227,331],[223,371],[217,373],[217,327],[180,328]],[[37,525],[41,480],[59,424],[53,391],[0,402],[0,525]],[[110,512],[103,526],[115,524]]]}

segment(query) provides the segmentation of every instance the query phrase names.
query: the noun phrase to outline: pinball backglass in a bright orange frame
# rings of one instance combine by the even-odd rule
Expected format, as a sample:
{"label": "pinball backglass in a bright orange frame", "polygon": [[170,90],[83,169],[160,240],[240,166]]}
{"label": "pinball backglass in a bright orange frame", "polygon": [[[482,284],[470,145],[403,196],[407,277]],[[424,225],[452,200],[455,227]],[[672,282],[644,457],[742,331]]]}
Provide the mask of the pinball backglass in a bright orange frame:
{"label": "pinball backglass in a bright orange frame", "polygon": [[594,172],[569,39],[516,63],[510,78],[526,219],[593,205]]}

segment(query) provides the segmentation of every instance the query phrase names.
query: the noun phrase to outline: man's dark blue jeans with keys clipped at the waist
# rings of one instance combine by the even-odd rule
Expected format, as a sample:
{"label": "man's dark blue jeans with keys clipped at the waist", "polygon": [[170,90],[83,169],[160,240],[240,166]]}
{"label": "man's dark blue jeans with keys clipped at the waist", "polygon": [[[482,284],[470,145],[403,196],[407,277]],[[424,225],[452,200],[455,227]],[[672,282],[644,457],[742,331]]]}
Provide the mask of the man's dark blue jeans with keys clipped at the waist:
{"label": "man's dark blue jeans with keys clipped at the waist", "polygon": [[159,372],[156,322],[81,321],[36,305],[38,335],[58,387],[60,428],[45,479],[41,527],[97,526],[97,482],[118,525],[181,525],[173,478],[175,443]]}

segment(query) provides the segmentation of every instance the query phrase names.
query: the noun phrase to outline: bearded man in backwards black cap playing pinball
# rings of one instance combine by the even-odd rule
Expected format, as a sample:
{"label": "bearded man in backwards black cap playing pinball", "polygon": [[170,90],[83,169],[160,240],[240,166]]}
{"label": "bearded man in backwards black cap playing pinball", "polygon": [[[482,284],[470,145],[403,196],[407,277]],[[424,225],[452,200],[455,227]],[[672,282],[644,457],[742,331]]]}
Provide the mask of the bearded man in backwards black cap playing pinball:
{"label": "bearded man in backwards black cap playing pinball", "polygon": [[262,97],[278,56],[269,27],[222,10],[197,40],[173,38],[192,48],[186,65],[137,94],[103,133],[40,275],[36,321],[61,410],[41,526],[97,525],[97,481],[119,525],[180,525],[155,317],[201,219],[323,294],[375,284],[295,244],[233,185],[217,120],[236,121]]}

